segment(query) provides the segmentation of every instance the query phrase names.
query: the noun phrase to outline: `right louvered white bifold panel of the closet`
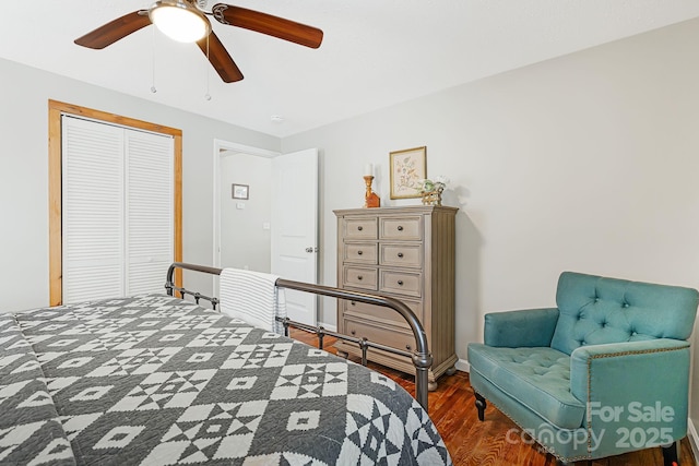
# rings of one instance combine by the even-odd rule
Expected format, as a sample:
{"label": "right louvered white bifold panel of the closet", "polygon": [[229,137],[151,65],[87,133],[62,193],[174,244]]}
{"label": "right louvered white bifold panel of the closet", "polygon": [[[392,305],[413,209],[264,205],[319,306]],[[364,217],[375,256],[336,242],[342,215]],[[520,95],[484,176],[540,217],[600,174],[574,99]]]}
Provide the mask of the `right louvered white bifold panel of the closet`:
{"label": "right louvered white bifold panel of the closet", "polygon": [[163,292],[174,260],[173,138],[129,131],[127,148],[127,295]]}

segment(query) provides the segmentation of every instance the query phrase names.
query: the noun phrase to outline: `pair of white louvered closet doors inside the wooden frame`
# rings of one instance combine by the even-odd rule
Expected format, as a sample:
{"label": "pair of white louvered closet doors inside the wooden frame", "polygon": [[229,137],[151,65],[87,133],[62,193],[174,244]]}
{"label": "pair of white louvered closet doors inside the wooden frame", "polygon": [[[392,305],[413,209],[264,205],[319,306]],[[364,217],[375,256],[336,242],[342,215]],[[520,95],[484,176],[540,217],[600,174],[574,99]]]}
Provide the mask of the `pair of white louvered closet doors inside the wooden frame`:
{"label": "pair of white louvered closet doors inside the wooden frame", "polygon": [[61,116],[62,301],[162,292],[174,261],[174,138]]}

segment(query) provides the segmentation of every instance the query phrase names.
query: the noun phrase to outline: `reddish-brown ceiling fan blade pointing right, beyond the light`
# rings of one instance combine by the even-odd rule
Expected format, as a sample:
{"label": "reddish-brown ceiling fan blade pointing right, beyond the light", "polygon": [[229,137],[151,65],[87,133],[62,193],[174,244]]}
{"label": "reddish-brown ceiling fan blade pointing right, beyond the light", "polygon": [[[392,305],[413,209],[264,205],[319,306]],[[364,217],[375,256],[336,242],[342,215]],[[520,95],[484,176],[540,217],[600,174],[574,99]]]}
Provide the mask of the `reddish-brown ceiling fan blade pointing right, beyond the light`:
{"label": "reddish-brown ceiling fan blade pointing right, beyond the light", "polygon": [[222,24],[244,27],[306,47],[318,48],[323,39],[323,32],[317,27],[259,11],[225,3],[216,3],[211,11]]}

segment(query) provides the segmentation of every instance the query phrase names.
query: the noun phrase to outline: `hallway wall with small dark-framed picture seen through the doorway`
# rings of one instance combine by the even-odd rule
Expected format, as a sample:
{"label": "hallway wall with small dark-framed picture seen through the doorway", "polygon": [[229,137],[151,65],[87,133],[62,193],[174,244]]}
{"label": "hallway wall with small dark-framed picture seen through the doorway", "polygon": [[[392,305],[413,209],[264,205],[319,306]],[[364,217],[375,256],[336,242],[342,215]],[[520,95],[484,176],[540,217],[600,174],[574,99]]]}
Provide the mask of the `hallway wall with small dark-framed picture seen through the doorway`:
{"label": "hallway wall with small dark-framed picture seen through the doorway", "polygon": [[[270,273],[272,159],[226,151],[221,158],[221,266]],[[233,183],[248,184],[249,199],[232,198]],[[241,205],[244,208],[238,208]]]}

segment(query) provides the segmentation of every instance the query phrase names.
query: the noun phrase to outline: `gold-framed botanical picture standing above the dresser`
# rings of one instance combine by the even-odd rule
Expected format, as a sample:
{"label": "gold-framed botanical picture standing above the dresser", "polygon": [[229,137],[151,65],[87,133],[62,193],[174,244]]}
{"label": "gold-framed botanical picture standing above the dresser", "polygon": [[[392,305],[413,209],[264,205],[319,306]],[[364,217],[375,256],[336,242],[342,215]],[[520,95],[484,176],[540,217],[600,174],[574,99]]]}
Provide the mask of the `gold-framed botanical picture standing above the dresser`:
{"label": "gold-framed botanical picture standing above the dresser", "polygon": [[427,147],[390,153],[391,199],[419,198],[419,181],[427,178]]}

